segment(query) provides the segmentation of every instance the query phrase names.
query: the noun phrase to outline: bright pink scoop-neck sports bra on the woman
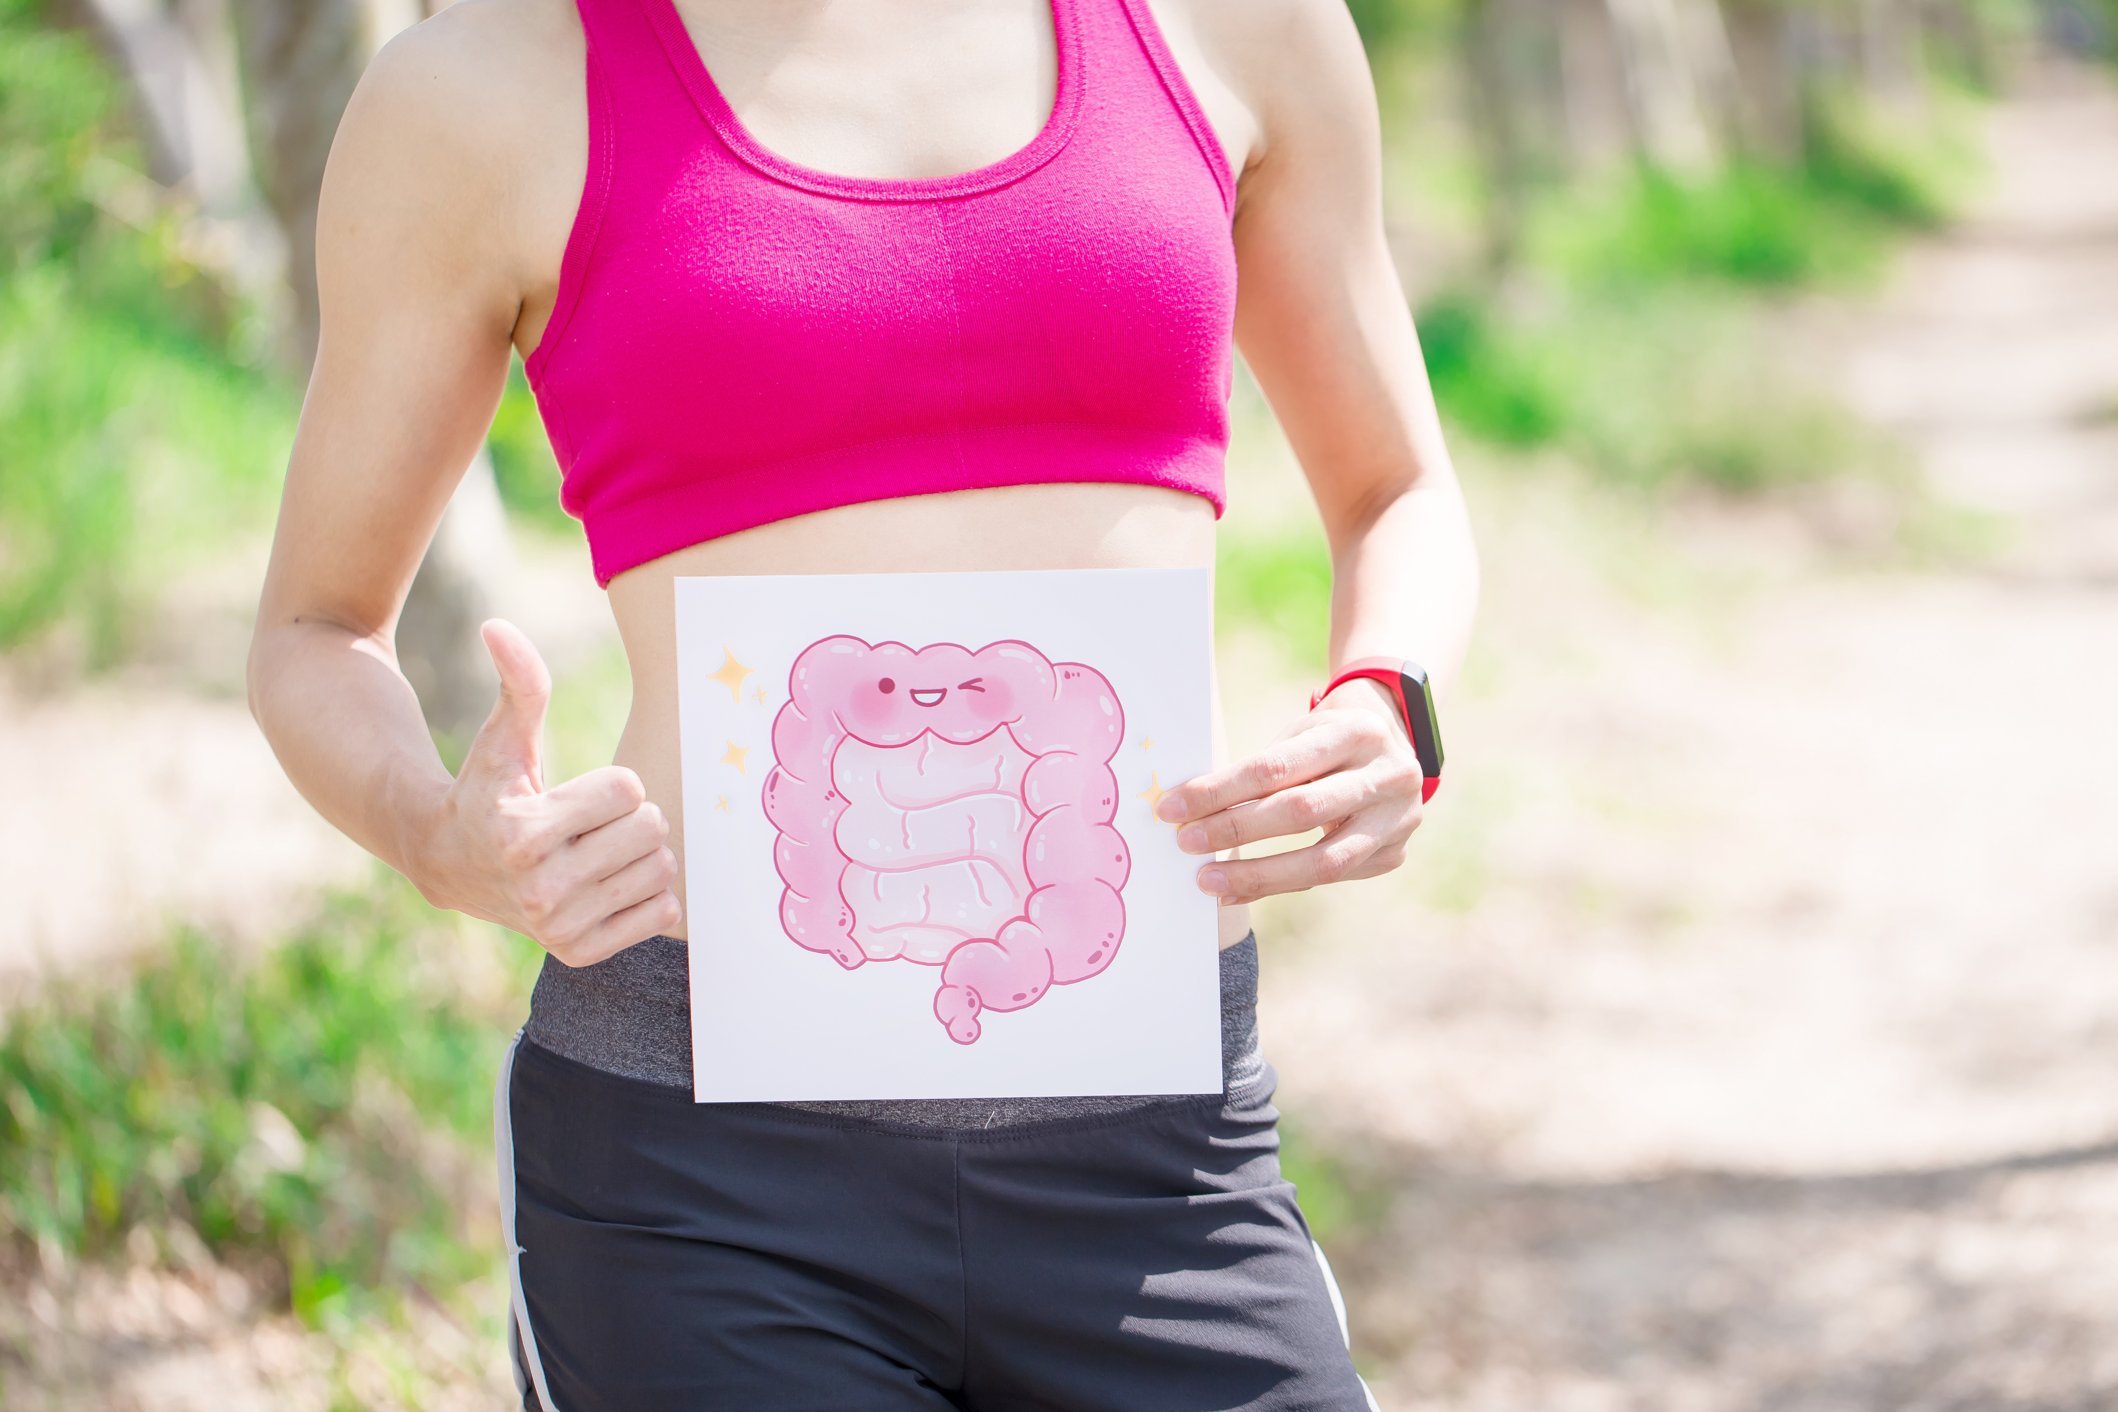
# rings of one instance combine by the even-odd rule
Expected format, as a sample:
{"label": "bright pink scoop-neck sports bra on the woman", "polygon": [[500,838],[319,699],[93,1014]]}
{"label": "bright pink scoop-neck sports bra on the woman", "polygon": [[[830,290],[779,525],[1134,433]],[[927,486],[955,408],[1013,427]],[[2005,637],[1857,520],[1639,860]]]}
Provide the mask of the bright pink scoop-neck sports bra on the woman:
{"label": "bright pink scoop-neck sports bra on the woman", "polygon": [[915,182],[758,146],[671,0],[578,4],[589,182],[527,368],[597,582],[896,495],[1222,510],[1235,178],[1146,0],[1051,0],[1044,129]]}

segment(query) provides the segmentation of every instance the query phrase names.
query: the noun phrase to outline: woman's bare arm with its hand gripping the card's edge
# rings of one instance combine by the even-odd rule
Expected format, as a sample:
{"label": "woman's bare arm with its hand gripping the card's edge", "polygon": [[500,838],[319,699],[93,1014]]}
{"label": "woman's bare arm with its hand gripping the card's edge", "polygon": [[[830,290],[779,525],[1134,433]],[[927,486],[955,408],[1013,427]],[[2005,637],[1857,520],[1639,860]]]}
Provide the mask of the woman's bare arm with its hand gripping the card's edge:
{"label": "woman's bare arm with its hand gripping the card's edge", "polygon": [[[1413,658],[1447,688],[1478,559],[1383,235],[1360,36],[1336,0],[1214,0],[1192,23],[1256,119],[1235,216],[1235,328],[1324,517],[1332,667]],[[1184,821],[1190,853],[1324,830],[1307,849],[1203,866],[1199,885],[1235,904],[1398,868],[1419,783],[1394,701],[1362,680],[1264,752],[1171,790],[1161,817]]]}

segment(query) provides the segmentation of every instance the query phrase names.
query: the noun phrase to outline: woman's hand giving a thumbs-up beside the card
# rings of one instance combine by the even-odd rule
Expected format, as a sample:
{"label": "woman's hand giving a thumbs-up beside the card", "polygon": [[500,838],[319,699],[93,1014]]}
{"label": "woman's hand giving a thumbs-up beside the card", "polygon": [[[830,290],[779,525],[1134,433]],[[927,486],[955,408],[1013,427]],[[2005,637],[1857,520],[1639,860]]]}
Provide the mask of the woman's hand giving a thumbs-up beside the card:
{"label": "woman's hand giving a thumbs-up beside the card", "polygon": [[419,893],[521,931],[566,965],[676,927],[669,821],[640,775],[610,764],[546,790],[551,671],[515,624],[493,618],[483,635],[500,701],[430,821]]}

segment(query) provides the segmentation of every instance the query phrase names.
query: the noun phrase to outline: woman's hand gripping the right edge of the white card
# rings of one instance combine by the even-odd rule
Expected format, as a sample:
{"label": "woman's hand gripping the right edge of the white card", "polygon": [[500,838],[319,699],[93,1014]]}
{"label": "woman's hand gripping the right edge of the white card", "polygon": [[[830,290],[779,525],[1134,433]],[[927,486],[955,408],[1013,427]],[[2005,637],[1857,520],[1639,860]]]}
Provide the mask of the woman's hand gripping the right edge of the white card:
{"label": "woman's hand gripping the right edge of the white card", "polygon": [[1324,830],[1307,849],[1201,868],[1199,889],[1235,906],[1396,870],[1419,828],[1419,756],[1396,701],[1356,677],[1256,756],[1169,790],[1154,813],[1184,826],[1178,847],[1186,853]]}

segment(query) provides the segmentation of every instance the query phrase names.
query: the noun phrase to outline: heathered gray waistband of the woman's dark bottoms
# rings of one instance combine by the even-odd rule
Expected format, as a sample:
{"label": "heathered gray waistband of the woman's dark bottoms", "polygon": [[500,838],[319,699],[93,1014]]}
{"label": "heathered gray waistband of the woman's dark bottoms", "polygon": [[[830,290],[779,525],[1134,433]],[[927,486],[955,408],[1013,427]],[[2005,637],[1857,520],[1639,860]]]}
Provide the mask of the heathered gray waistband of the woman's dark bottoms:
{"label": "heathered gray waistband of the woman's dark bottoms", "polygon": [[[621,1078],[690,1088],[690,961],[684,942],[650,936],[608,961],[568,967],[544,957],[530,997],[525,1033],[574,1063]],[[1220,1071],[1228,1094],[1264,1075],[1258,1050],[1258,938],[1220,953]],[[1154,1097],[1082,1099],[887,1099],[858,1103],[782,1103],[923,1128],[1000,1128],[1055,1118],[1093,1118],[1169,1103]],[[1178,1099],[1182,1101],[1182,1099]]]}

